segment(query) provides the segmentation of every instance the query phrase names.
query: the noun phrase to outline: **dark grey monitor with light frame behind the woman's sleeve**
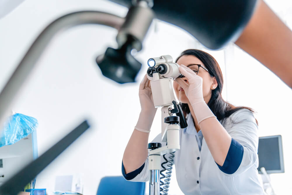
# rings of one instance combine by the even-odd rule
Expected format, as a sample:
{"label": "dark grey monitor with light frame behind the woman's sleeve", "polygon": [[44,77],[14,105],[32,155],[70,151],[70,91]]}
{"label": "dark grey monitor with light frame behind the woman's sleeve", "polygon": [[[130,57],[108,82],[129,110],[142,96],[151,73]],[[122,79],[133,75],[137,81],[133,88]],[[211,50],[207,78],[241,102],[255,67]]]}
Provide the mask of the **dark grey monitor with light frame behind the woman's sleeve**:
{"label": "dark grey monitor with light frame behind the woman's sleeve", "polygon": [[267,173],[284,173],[284,160],[281,135],[259,137],[258,171],[264,167]]}

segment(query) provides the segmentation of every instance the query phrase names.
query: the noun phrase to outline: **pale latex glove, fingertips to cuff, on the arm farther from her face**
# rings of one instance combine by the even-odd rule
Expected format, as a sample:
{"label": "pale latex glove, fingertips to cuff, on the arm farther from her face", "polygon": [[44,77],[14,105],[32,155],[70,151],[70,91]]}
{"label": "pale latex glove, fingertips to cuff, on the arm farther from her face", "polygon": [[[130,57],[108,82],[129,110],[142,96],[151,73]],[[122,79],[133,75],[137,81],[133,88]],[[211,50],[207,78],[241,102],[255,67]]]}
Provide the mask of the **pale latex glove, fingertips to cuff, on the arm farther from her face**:
{"label": "pale latex glove, fingertips to cuff, on the arm farther from her face", "polygon": [[141,113],[135,129],[149,133],[157,108],[154,107],[150,80],[147,78],[147,75],[144,76],[140,83],[139,99]]}

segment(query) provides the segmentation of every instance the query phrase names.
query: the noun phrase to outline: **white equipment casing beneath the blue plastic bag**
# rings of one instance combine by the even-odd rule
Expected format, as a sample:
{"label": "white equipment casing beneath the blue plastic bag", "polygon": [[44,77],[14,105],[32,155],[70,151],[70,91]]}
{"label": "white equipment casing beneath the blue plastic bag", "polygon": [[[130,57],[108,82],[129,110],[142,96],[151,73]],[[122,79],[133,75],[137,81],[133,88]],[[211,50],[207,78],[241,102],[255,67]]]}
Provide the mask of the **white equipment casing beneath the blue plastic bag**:
{"label": "white equipment casing beneath the blue plastic bag", "polygon": [[37,156],[36,131],[14,144],[0,147],[0,186]]}

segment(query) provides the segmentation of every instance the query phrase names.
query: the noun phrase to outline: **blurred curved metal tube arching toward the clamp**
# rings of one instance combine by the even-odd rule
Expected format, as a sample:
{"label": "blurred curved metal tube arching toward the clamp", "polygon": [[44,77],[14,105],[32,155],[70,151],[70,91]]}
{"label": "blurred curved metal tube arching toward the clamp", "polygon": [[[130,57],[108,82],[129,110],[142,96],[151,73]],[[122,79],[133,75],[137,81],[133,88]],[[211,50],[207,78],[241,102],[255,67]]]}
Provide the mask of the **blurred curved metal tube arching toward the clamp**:
{"label": "blurred curved metal tube arching toward the clamp", "polygon": [[0,94],[0,127],[5,122],[4,116],[17,92],[29,76],[29,73],[34,68],[36,61],[39,59],[44,49],[57,32],[81,24],[101,24],[119,30],[124,21],[124,18],[105,12],[80,11],[64,15],[48,25],[29,48]]}

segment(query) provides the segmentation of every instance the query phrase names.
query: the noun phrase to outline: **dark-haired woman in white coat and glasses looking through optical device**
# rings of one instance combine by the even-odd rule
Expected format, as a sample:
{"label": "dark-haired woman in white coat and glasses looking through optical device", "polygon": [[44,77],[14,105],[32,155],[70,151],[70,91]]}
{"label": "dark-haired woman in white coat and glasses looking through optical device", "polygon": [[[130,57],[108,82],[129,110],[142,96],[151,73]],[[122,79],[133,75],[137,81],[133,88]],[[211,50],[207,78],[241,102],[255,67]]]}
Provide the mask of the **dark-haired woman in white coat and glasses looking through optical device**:
{"label": "dark-haired woman in white coat and glasses looking through optical device", "polygon": [[[185,77],[173,87],[188,123],[180,129],[181,149],[174,157],[180,189],[184,194],[265,194],[258,178],[258,124],[252,109],[223,100],[223,76],[210,54],[189,49],[176,62]],[[146,76],[139,97],[141,113],[124,152],[122,173],[127,180],[145,182],[148,132],[156,112]],[[161,142],[161,134],[153,141]]]}

